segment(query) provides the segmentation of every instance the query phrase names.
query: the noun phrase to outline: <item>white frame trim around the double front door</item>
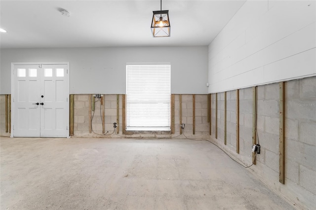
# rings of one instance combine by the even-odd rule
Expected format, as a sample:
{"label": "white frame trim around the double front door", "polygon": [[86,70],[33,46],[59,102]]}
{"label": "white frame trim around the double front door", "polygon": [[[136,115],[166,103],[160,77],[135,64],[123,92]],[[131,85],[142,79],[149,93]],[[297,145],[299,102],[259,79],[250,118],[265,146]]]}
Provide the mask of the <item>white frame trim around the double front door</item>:
{"label": "white frame trim around the double front door", "polygon": [[69,135],[69,104],[70,104],[70,99],[69,99],[69,77],[70,77],[70,66],[69,66],[69,62],[12,62],[11,63],[11,135],[10,137],[13,138],[14,137],[14,66],[15,65],[67,65],[67,69],[68,69],[68,78],[67,78],[67,96],[68,96],[68,100],[67,100],[67,107],[66,107],[66,111],[67,114],[66,117],[66,125],[68,125],[67,127],[67,138],[70,138]]}

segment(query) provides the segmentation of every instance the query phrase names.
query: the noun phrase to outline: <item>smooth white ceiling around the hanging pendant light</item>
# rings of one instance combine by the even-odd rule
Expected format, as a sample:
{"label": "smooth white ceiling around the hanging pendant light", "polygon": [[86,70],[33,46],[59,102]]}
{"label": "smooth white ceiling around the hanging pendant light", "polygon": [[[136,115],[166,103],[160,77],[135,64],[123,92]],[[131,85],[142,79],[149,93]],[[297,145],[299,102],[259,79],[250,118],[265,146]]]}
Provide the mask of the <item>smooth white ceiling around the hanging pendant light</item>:
{"label": "smooth white ceiling around the hanging pendant light", "polygon": [[[170,37],[153,37],[159,0],[0,0],[1,48],[205,46],[245,0],[162,0]],[[70,17],[61,10],[68,10]]]}

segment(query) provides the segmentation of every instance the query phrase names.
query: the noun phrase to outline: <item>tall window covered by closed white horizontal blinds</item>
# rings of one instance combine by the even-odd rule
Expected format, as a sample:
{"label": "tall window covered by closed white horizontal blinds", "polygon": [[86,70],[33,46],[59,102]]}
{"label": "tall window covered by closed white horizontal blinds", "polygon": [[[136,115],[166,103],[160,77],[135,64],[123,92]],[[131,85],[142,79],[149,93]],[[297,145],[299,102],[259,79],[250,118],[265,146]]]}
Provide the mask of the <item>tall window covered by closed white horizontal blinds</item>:
{"label": "tall window covered by closed white horizontal blinds", "polygon": [[126,66],[126,130],[170,131],[170,69]]}

